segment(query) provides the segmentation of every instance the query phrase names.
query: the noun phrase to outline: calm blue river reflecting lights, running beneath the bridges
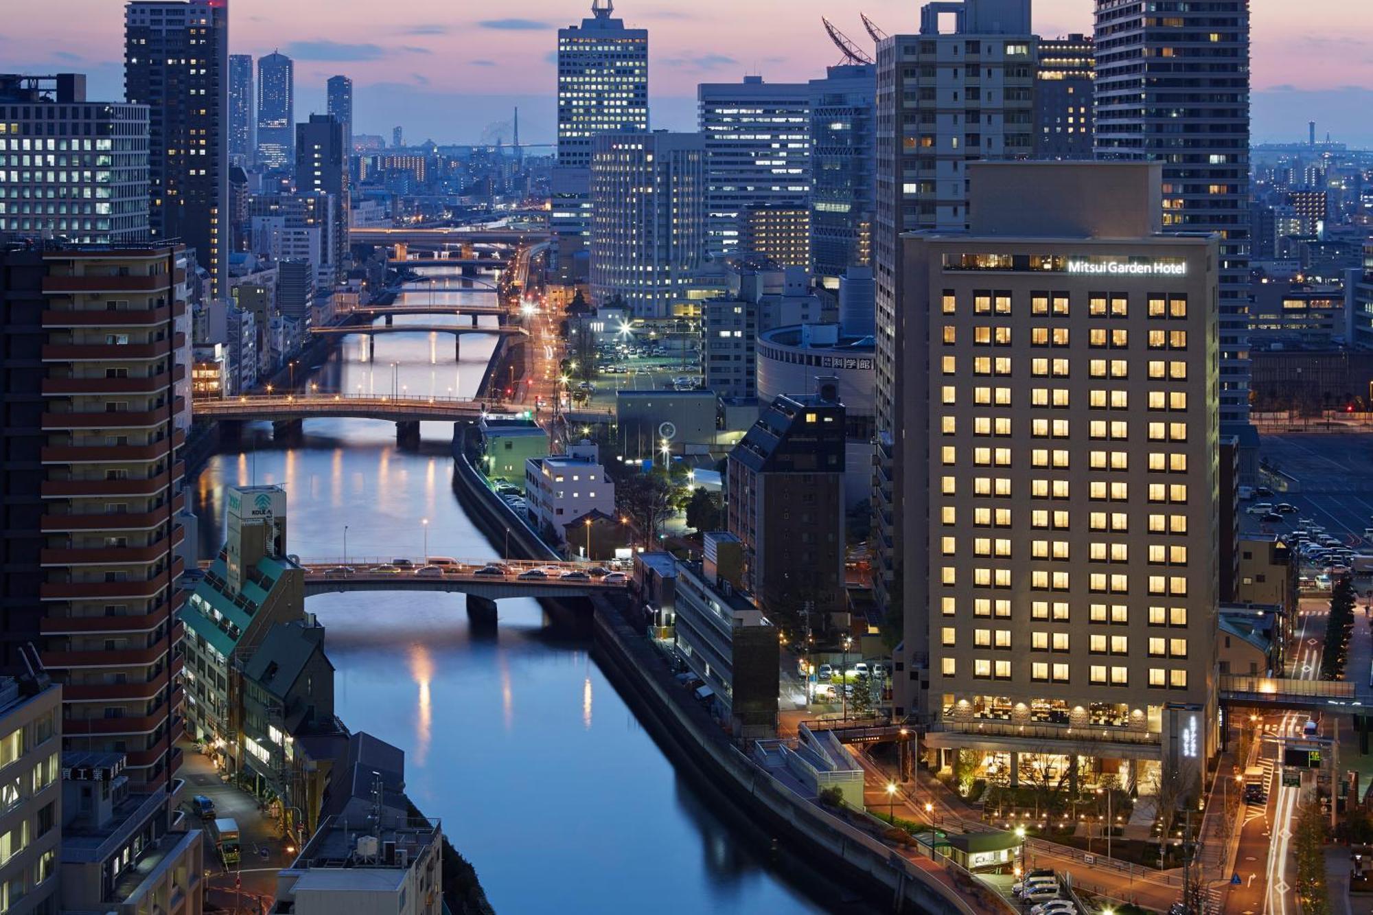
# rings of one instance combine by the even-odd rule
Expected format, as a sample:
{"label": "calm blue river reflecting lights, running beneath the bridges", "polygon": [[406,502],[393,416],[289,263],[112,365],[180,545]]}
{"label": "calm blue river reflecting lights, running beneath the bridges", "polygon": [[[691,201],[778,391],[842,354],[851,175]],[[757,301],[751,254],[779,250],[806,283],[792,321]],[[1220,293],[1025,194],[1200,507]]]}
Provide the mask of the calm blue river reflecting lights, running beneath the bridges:
{"label": "calm blue river reflecting lights, running beneath the bridges", "polygon": [[[312,381],[320,392],[471,396],[494,338],[464,337],[456,368],[446,334],[373,345],[364,361],[362,337],[346,337]],[[284,484],[290,548],[306,559],[342,556],[345,525],[354,562],[422,555],[426,536],[430,555],[498,554],[453,495],[452,426],[422,431],[419,451],[400,451],[391,423],[312,419],[284,448],[268,425],[250,425],[195,485],[202,555],[222,541],[232,482]],[[607,681],[588,635],[537,602],[501,600],[487,639],[468,633],[461,595],[320,595],[308,609],[328,631],[338,714],[405,750],[409,794],[442,819],[498,914],[869,911],[839,903],[833,885],[732,812],[722,819],[722,801],[677,773]]]}

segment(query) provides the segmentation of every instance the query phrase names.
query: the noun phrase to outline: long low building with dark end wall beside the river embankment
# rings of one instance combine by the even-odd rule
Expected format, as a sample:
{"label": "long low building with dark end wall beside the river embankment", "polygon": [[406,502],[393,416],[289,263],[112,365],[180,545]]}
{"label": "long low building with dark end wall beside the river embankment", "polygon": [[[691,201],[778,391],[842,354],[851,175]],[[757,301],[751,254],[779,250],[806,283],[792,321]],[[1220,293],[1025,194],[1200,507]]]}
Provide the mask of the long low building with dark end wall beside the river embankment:
{"label": "long low building with dark end wall beside the river embankment", "polygon": [[778,636],[740,589],[743,544],[717,532],[704,539],[702,562],[677,562],[673,588],[677,651],[700,677],[736,738],[777,734]]}

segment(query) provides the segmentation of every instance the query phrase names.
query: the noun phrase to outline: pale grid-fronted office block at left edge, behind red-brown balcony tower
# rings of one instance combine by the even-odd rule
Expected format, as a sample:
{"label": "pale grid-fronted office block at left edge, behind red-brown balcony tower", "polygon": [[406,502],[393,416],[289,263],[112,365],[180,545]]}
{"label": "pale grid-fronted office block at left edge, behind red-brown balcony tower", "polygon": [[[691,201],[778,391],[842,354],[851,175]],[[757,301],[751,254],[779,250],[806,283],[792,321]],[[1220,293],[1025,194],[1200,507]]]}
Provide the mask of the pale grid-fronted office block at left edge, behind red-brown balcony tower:
{"label": "pale grid-fronted office block at left edge, behind red-brown balcony tower", "polygon": [[0,169],[0,231],[73,242],[147,239],[147,106],[89,100],[81,73],[0,74],[0,124],[7,125],[0,158],[11,165],[45,146],[71,166]]}

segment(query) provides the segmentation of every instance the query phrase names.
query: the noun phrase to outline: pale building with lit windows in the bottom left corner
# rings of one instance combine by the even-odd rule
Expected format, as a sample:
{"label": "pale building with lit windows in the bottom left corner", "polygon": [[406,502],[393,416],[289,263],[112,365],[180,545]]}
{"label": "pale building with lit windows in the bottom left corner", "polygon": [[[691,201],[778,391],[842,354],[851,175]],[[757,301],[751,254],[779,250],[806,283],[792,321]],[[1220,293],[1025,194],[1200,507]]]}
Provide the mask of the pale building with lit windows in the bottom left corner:
{"label": "pale building with lit windows in the bottom left corner", "polygon": [[0,908],[14,915],[52,912],[62,839],[62,687],[47,675],[0,677]]}

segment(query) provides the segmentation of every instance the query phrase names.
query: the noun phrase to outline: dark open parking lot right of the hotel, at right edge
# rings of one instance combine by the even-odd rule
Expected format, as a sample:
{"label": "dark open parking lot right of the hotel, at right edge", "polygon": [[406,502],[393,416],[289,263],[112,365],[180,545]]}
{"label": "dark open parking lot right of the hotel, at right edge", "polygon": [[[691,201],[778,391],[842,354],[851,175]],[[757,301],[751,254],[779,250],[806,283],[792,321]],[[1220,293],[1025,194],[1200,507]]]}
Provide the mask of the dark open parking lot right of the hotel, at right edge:
{"label": "dark open parking lot right of the hotel, at right edge", "polygon": [[1365,528],[1373,526],[1373,436],[1285,434],[1263,436],[1259,456],[1277,471],[1273,496],[1255,496],[1241,510],[1258,501],[1291,503],[1296,511],[1282,522],[1260,522],[1244,514],[1244,532],[1287,534],[1308,518],[1357,552],[1373,552]]}

